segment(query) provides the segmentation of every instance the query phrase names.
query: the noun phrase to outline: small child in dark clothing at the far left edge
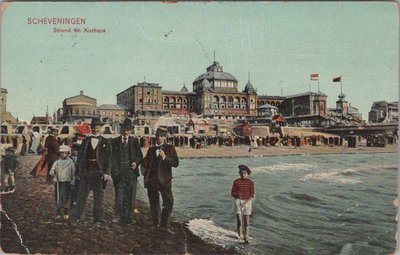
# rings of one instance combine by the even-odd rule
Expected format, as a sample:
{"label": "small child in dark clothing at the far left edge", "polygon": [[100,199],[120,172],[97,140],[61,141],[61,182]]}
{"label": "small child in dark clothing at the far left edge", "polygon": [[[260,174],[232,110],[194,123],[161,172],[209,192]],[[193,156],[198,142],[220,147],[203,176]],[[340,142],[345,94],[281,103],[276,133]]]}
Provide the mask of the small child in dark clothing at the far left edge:
{"label": "small child in dark clothing at the far left edge", "polygon": [[[17,170],[17,158],[14,155],[15,149],[13,147],[8,147],[6,149],[6,155],[3,156],[1,162],[1,178],[4,183],[5,192],[14,190],[15,188],[15,171]],[[9,180],[11,183],[9,183]],[[11,184],[11,185],[10,185]]]}

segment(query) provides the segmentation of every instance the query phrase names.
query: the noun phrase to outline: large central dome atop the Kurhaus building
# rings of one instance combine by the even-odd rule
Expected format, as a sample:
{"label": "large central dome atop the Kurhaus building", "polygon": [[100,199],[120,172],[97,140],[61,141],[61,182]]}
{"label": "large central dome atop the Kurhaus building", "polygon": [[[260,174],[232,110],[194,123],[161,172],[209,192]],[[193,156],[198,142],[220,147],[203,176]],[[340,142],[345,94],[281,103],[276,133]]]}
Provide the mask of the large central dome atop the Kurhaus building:
{"label": "large central dome atop the Kurhaus building", "polygon": [[216,61],[207,67],[207,72],[193,81],[193,91],[211,89],[215,92],[238,92],[238,81],[233,75],[224,72],[223,67]]}

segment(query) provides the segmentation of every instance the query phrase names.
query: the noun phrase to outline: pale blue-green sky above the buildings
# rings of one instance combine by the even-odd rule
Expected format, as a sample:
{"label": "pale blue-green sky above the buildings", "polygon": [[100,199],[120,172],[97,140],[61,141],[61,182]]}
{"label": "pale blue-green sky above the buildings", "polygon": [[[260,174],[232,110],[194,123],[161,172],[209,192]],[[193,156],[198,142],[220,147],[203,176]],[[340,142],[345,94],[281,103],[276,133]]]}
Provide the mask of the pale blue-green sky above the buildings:
{"label": "pale blue-green sky above the buildings", "polygon": [[[83,17],[86,25],[28,25],[34,17]],[[53,33],[53,28],[106,33]],[[172,32],[165,37],[168,32]],[[50,114],[79,94],[98,105],[137,82],[180,90],[213,60],[242,90],[247,72],[258,94],[312,90],[310,74],[334,107],[340,92],[363,118],[373,101],[398,100],[399,35],[392,2],[9,3],[1,27],[1,86],[20,119]]]}

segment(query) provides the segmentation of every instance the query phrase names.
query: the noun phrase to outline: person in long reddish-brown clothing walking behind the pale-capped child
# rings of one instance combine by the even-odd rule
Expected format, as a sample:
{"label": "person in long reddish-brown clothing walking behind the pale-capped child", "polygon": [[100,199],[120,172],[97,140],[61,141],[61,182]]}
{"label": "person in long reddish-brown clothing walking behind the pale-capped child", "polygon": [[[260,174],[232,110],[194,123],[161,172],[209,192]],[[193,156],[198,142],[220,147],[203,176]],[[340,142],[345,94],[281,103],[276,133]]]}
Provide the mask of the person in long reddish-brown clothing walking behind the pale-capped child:
{"label": "person in long reddish-brown clothing walking behind the pale-capped child", "polygon": [[60,145],[57,141],[58,129],[50,128],[50,134],[46,138],[44,143],[44,153],[40,158],[39,162],[30,172],[33,176],[45,176],[46,183],[50,182],[49,171],[53,166],[54,162],[58,159],[58,151],[60,150]]}

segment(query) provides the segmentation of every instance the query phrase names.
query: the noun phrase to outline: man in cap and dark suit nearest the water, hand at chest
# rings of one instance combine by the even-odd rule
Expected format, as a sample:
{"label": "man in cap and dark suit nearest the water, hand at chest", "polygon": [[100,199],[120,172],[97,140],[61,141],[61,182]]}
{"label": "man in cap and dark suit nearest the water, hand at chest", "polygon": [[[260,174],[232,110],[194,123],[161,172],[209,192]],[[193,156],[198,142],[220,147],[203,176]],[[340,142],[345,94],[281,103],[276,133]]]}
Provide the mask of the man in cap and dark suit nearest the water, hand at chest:
{"label": "man in cap and dark suit nearest the water, hand at chest", "polygon": [[[144,182],[150,201],[154,228],[169,230],[174,197],[172,194],[172,167],[178,167],[179,158],[175,147],[165,143],[166,128],[158,128],[156,146],[150,147],[143,159]],[[163,200],[160,225],[160,194]]]}

